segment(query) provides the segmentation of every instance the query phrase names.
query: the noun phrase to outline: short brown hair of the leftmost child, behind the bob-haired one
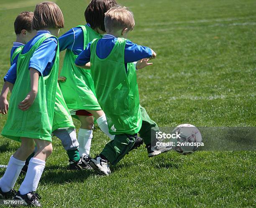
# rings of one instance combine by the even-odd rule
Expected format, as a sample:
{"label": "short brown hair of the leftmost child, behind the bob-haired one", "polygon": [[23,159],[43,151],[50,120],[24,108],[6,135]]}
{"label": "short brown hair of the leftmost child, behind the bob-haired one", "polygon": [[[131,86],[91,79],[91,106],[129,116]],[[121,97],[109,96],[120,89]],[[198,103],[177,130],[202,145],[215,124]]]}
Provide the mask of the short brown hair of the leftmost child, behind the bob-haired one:
{"label": "short brown hair of the leftmost child, behind the bob-haired one", "polygon": [[16,35],[21,33],[21,30],[32,30],[33,12],[22,12],[14,21],[14,30]]}

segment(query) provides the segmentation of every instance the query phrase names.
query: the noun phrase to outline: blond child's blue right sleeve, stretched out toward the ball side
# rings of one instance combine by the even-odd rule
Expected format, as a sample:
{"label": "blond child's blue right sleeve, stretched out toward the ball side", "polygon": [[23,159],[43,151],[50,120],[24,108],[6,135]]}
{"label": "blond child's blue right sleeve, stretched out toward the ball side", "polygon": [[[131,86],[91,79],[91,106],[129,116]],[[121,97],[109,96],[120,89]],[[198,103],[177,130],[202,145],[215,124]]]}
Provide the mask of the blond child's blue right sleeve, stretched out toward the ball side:
{"label": "blond child's blue right sleeve, stretched out toward the ball side", "polygon": [[152,51],[148,47],[137,45],[126,40],[124,56],[125,63],[133,63],[143,58],[150,58],[152,56]]}

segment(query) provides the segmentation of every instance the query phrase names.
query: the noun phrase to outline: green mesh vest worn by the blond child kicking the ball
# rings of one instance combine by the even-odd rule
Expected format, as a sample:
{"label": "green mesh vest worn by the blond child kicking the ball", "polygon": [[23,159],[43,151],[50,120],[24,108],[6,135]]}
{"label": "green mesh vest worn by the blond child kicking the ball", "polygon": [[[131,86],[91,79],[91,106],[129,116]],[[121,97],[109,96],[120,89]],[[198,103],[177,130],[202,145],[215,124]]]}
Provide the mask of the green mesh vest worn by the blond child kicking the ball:
{"label": "green mesh vest worn by the blond child kicking the ball", "polygon": [[[95,80],[95,92],[111,127],[111,133],[135,134],[141,128],[141,110],[139,108],[136,69],[133,63],[127,63],[125,69],[124,50],[126,39],[118,38],[107,58],[96,54],[98,39],[91,44],[91,73]],[[104,50],[104,48],[101,48]],[[127,72],[126,72],[127,70]]]}

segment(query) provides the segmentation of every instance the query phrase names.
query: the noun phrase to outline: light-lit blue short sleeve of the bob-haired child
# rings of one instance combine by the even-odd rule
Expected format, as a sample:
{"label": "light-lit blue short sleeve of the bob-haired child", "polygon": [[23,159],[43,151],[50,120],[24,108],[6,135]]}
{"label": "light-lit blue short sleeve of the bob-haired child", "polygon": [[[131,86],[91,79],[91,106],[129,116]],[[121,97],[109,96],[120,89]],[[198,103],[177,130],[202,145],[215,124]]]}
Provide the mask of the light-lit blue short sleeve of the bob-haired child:
{"label": "light-lit blue short sleeve of the bob-haired child", "polygon": [[33,53],[28,67],[35,68],[43,74],[46,66],[55,58],[57,45],[56,38],[47,38]]}

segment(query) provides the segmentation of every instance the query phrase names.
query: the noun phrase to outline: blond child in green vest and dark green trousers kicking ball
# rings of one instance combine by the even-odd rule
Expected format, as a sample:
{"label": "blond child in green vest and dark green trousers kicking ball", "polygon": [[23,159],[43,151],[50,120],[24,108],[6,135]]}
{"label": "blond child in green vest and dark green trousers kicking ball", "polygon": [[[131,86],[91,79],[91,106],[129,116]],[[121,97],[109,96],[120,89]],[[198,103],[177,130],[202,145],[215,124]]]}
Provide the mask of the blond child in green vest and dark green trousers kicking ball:
{"label": "blond child in green vest and dark green trousers kicking ball", "polygon": [[75,63],[84,66],[90,62],[98,102],[106,114],[109,132],[115,135],[100,155],[90,160],[97,173],[109,175],[109,163],[115,165],[133,148],[137,133],[143,138],[149,157],[169,151],[171,147],[159,148],[156,140],[151,142],[151,131],[159,128],[139,104],[133,62],[139,60],[137,69],[151,65],[148,61],[155,58],[156,53],[125,39],[135,25],[133,14],[127,8],[108,10],[104,22],[108,35],[89,43]]}

